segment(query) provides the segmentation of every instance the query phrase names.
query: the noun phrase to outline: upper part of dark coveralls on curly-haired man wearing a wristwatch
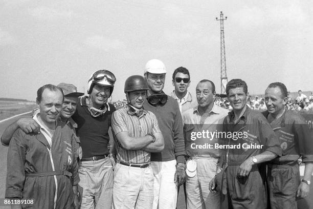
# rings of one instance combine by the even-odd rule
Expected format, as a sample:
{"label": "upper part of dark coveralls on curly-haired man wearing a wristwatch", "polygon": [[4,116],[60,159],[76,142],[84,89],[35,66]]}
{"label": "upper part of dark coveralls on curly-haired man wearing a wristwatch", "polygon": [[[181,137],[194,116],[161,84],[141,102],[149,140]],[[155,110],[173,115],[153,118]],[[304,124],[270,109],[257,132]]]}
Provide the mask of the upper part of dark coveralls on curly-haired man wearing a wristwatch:
{"label": "upper part of dark coveralls on curly-haired man wearing a wristwatch", "polygon": [[242,163],[264,151],[281,156],[279,140],[262,113],[246,108],[238,121],[234,122],[234,119],[234,111],[231,111],[223,122],[223,132],[227,134],[223,144],[231,147],[222,149],[222,161]]}

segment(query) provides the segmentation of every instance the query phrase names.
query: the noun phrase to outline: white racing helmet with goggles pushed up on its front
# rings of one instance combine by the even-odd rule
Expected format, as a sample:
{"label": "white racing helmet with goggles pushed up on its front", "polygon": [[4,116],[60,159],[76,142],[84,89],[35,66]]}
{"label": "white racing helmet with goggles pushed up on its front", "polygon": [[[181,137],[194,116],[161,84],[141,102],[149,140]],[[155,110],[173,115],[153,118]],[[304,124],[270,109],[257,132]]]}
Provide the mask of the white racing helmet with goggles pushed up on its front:
{"label": "white racing helmet with goggles pushed up on its front", "polygon": [[101,86],[110,87],[110,96],[113,92],[115,75],[108,70],[98,70],[94,72],[88,80],[87,93],[90,94],[95,86],[95,83]]}

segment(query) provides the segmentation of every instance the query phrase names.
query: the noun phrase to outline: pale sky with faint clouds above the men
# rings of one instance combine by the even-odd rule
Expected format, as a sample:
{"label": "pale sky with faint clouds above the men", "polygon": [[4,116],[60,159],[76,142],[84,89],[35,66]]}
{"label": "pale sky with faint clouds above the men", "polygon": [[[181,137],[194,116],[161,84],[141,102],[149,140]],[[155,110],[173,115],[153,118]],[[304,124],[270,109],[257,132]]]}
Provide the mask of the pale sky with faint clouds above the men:
{"label": "pale sky with faint clouds above the men", "polygon": [[125,79],[143,75],[149,59],[168,71],[165,92],[180,66],[220,93],[223,11],[228,80],[241,78],[251,94],[270,82],[290,91],[313,90],[311,1],[27,1],[0,2],[0,97],[35,100],[47,83],[73,83],[107,69],[117,77],[113,100],[124,99]]}

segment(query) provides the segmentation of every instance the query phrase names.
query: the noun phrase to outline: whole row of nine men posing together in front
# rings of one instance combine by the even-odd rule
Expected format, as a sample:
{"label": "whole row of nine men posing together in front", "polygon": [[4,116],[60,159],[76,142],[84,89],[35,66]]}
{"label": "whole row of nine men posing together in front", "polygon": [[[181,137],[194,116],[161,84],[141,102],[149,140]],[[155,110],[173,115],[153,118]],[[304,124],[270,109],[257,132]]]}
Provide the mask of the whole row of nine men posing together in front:
{"label": "whole row of nine men posing together in front", "polygon": [[229,111],[214,103],[208,79],[197,83],[195,102],[184,67],[166,95],[166,73],[149,60],[144,76],[126,79],[128,105],[119,110],[107,102],[116,82],[107,70],[90,77],[88,96],[66,83],[41,87],[39,111],[2,136],[6,198],[34,200],[19,208],[174,209],[184,184],[187,208],[297,208],[309,192],[313,146],[303,118],[284,108],[285,85],[267,87],[262,114],[247,106],[247,83],[232,79]]}

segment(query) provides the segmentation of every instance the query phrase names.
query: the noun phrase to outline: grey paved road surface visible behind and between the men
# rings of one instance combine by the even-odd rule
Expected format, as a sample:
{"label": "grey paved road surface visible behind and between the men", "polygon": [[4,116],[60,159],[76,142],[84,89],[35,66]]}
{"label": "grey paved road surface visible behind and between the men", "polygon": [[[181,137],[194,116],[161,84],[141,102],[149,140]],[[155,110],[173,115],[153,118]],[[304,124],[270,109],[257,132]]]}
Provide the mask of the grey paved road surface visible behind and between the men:
{"label": "grey paved road surface visible behind and between the men", "polygon": [[[28,116],[28,115],[27,115]],[[26,115],[19,116],[16,118],[12,118],[10,120],[7,120],[5,122],[0,123],[0,136],[4,132],[5,128],[17,120],[20,117],[26,117]],[[29,116],[28,116],[29,117]],[[7,151],[8,148],[4,147],[3,145],[0,145],[0,198],[4,198],[5,196],[5,183],[6,183],[6,172],[7,172]],[[310,186],[310,196],[302,199],[298,202],[299,209],[313,209],[313,184]],[[0,206],[1,209],[8,209],[10,207],[4,207]],[[186,209],[185,205],[185,197],[184,197],[184,190],[183,187],[181,187],[180,194],[178,196],[178,204],[177,209]]]}

